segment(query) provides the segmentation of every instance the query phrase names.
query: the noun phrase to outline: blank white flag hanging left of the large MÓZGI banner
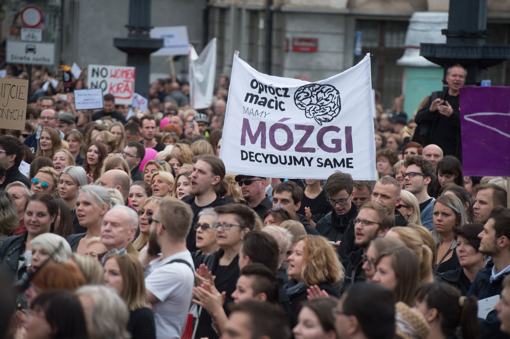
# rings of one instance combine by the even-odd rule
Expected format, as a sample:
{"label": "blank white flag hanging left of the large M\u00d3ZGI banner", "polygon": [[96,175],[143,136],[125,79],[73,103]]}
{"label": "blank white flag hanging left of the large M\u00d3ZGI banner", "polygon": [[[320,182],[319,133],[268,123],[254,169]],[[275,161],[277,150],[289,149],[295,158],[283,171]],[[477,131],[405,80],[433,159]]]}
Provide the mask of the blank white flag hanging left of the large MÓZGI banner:
{"label": "blank white flag hanging left of the large M\u00d3ZGI banner", "polygon": [[216,38],[202,50],[200,56],[190,44],[189,51],[190,104],[194,109],[208,108],[213,102],[216,73]]}

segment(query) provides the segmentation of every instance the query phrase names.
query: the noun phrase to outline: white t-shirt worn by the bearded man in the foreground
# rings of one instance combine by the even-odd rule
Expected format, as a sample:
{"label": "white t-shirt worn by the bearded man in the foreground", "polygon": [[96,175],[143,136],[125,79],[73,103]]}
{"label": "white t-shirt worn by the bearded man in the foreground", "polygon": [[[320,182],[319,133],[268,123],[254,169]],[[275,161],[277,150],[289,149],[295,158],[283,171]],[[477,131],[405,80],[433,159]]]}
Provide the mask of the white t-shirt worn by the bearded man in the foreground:
{"label": "white t-shirt worn by the bearded man in the foreground", "polygon": [[167,264],[174,259],[184,259],[194,267],[191,253],[183,251],[163,260],[152,260],[151,272],[145,278],[147,291],[160,300],[152,305],[158,339],[181,338],[193,297],[194,272],[183,263]]}

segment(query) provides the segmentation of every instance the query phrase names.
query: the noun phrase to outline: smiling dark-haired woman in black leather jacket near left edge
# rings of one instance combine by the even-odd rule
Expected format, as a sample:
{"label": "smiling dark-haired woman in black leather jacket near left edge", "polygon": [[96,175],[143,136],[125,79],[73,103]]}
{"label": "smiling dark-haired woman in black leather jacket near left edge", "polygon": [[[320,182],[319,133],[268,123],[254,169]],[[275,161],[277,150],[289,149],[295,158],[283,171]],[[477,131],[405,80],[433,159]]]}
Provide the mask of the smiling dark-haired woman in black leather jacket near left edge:
{"label": "smiling dark-haired woman in black leather jacket near left edge", "polygon": [[39,234],[53,230],[57,218],[58,204],[55,199],[44,193],[36,193],[27,199],[25,208],[24,224],[27,233],[7,238],[0,247],[0,258],[8,273],[21,278],[31,265],[32,245],[31,242]]}

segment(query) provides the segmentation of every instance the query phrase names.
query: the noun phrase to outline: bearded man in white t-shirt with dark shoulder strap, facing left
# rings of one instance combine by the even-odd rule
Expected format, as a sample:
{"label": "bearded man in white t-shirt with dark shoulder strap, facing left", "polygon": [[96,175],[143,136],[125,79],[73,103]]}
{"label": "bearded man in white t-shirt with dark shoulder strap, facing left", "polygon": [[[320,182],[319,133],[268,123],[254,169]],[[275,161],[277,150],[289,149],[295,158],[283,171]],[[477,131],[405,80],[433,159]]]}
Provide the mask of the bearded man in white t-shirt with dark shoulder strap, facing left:
{"label": "bearded man in white t-shirt with dark shoulder strap, facing left", "polygon": [[195,270],[186,248],[193,212],[188,204],[165,198],[149,217],[149,249],[161,252],[145,278],[147,301],[154,309],[158,338],[180,338],[193,295]]}

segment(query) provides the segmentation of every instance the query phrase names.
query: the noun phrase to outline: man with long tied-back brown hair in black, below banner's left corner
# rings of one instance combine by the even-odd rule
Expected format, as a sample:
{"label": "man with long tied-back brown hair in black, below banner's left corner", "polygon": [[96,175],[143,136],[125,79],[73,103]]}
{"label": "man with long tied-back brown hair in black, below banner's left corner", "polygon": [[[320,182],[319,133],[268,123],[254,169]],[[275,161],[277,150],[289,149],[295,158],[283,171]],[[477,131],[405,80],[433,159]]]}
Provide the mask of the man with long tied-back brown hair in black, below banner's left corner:
{"label": "man with long tied-back brown hair in black, below banner's left corner", "polygon": [[[191,169],[189,179],[191,181],[190,195],[182,201],[191,205],[193,211],[193,225],[198,222],[198,213],[204,208],[216,207],[227,203],[234,203],[229,197],[222,198],[216,193],[221,181],[225,177],[225,165],[223,161],[212,154],[200,155]],[[191,228],[186,245],[190,251],[196,251],[196,231]]]}

